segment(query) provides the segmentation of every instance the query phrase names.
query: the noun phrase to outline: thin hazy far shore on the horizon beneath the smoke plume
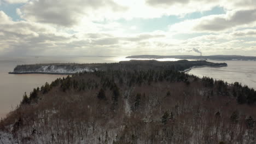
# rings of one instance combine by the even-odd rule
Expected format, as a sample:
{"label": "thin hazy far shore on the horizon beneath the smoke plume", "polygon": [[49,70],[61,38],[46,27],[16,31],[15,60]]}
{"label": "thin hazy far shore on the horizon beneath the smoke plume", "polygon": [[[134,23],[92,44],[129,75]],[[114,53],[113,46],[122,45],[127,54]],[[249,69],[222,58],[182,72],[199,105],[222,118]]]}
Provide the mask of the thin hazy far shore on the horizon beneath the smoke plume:
{"label": "thin hazy far shore on the horizon beneath the smoke plume", "polygon": [[192,55],[177,55],[177,56],[158,56],[158,55],[137,55],[128,56],[126,58],[149,58],[149,59],[160,59],[160,58],[177,58],[177,59],[211,59],[211,60],[222,60],[222,61],[256,61],[256,57],[252,56],[236,56],[236,55],[212,55],[212,56],[192,56]]}

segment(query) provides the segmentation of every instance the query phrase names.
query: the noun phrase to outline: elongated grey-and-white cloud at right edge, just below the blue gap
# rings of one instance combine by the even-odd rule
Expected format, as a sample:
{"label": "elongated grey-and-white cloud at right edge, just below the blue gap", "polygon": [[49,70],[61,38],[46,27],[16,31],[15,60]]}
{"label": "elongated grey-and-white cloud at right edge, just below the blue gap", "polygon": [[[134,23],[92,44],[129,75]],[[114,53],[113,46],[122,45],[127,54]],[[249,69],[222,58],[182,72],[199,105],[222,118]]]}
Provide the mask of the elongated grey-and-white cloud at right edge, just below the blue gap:
{"label": "elongated grey-and-white cloud at right edge, just below the blue gap", "polygon": [[213,32],[229,31],[232,28],[254,26],[256,9],[232,10],[222,15],[204,16],[199,19],[186,20],[171,25],[173,32]]}

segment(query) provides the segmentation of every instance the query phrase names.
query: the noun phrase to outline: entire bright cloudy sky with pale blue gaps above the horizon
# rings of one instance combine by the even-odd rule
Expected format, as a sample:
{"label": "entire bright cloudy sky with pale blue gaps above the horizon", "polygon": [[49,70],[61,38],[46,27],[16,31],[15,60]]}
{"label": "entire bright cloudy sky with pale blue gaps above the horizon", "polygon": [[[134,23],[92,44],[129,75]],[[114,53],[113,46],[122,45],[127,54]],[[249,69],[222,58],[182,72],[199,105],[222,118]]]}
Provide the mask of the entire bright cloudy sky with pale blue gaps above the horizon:
{"label": "entire bright cloudy sky with pale blue gaps above the horizon", "polygon": [[0,0],[0,56],[256,56],[255,0]]}

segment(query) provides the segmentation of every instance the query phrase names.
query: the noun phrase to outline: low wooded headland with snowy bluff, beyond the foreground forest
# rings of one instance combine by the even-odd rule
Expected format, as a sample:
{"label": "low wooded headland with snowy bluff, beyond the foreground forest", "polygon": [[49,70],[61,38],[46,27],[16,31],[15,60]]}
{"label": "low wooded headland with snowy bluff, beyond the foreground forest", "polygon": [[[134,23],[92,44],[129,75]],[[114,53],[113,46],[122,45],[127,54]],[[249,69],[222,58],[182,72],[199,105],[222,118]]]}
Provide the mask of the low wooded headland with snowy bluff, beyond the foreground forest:
{"label": "low wooded headland with snowy bluff, beyond the foreground forest", "polygon": [[9,74],[62,74],[69,75],[81,73],[84,71],[97,71],[97,70],[146,70],[146,69],[173,69],[178,71],[188,71],[196,67],[226,67],[226,63],[211,63],[206,61],[168,61],[159,62],[151,61],[121,61],[119,63],[91,63],[91,64],[78,64],[78,63],[50,63],[50,64],[25,64],[18,65],[14,68],[13,72]]}

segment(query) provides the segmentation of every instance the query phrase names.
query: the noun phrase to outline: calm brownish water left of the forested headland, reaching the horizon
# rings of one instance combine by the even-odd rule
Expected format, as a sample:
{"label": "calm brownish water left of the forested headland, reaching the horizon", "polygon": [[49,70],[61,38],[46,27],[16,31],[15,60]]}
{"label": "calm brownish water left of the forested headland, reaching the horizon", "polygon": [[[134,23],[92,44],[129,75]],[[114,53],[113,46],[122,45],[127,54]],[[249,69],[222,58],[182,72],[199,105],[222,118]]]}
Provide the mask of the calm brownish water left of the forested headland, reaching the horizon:
{"label": "calm brownish water left of the forested headland, reaching the horizon", "polygon": [[8,74],[16,65],[34,63],[104,63],[118,62],[124,57],[0,57],[0,118],[20,104],[24,92],[65,75]]}

